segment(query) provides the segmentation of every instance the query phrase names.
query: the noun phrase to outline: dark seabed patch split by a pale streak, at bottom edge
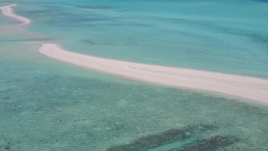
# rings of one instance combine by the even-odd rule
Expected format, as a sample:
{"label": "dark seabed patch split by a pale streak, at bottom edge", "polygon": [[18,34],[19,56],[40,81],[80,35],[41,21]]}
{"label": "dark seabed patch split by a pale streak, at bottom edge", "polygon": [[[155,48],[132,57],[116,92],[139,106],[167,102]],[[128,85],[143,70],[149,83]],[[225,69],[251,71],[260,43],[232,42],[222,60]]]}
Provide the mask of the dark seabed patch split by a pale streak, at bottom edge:
{"label": "dark seabed patch split by a pale streak, at bottom edge", "polygon": [[[185,140],[192,137],[195,133],[202,133],[207,130],[214,130],[215,125],[195,125],[187,126],[182,129],[170,129],[158,134],[148,135],[134,140],[129,144],[114,145],[107,150],[109,151],[139,151],[148,150],[162,145],[166,145],[175,141]],[[166,151],[203,151],[216,149],[232,144],[233,141],[225,136],[214,136],[210,139],[202,139],[183,146],[182,148],[173,148]]]}

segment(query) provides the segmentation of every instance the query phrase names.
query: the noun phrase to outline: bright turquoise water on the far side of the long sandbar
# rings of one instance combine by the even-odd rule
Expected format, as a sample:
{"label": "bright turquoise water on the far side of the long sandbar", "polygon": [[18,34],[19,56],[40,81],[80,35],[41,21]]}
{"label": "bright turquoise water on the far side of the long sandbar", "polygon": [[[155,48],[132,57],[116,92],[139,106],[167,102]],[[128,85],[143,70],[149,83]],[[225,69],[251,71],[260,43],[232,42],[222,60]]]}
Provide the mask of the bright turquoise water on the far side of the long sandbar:
{"label": "bright turquoise water on the far side of the long sandbar", "polygon": [[29,30],[66,49],[152,64],[268,77],[268,3],[14,1]]}

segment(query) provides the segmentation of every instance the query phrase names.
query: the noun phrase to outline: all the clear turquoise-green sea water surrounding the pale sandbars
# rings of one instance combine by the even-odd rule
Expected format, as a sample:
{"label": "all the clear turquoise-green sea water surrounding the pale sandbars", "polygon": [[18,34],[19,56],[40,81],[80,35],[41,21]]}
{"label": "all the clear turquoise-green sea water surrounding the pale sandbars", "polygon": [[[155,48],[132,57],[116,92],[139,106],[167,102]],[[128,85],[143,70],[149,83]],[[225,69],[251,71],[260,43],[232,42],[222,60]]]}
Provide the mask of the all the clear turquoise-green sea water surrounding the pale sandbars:
{"label": "all the clear turquoise-green sea water surrounding the pale sandbars", "polygon": [[[187,150],[215,136],[232,143],[198,150],[268,149],[266,105],[127,80],[37,52],[37,41],[51,42],[101,57],[266,79],[267,1],[0,0],[10,3],[33,24],[20,29],[0,16],[0,150]],[[184,137],[135,144],[163,141],[173,129]]]}

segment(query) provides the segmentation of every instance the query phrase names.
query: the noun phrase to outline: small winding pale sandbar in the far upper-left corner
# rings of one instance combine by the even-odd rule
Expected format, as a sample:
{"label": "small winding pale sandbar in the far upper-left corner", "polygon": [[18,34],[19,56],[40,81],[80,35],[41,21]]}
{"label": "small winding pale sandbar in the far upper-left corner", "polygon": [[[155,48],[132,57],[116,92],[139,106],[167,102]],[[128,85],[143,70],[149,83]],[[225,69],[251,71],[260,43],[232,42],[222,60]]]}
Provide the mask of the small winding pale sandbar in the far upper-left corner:
{"label": "small winding pale sandbar in the far upper-left corner", "polygon": [[31,24],[31,20],[24,18],[24,17],[21,17],[21,16],[17,16],[13,13],[13,10],[11,9],[11,7],[14,7],[17,5],[18,4],[13,4],[13,5],[5,6],[5,7],[0,7],[0,10],[4,16],[8,16],[10,18],[14,18],[16,20],[21,21],[22,24],[20,26]]}

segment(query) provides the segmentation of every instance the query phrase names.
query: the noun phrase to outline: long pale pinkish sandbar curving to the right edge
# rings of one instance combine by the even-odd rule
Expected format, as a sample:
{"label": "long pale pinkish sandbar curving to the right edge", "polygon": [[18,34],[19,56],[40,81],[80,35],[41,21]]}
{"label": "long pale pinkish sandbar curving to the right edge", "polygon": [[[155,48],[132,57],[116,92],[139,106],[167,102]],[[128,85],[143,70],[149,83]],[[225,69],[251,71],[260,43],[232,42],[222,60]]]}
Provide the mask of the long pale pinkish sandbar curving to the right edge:
{"label": "long pale pinkish sandbar curving to the right edge", "polygon": [[122,77],[268,103],[268,80],[264,79],[94,57],[63,50],[57,44],[42,44],[38,51],[51,58]]}

